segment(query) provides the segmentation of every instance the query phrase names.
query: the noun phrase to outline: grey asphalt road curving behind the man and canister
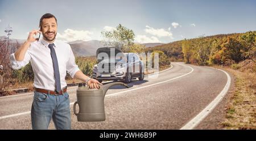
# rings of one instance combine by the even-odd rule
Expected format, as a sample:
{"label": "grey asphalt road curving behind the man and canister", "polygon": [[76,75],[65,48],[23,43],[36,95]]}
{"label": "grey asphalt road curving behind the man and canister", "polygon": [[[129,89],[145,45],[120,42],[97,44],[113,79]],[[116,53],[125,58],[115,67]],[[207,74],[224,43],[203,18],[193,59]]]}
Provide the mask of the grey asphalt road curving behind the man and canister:
{"label": "grey asphalt road curving behind the man and canister", "polygon": [[[77,122],[76,89],[69,88],[72,129],[180,129],[222,91],[222,71],[172,63],[158,78],[133,80],[131,88],[113,86],[106,93],[104,122]],[[135,89],[135,90],[133,90]],[[0,98],[0,129],[31,129],[33,93]],[[55,129],[51,121],[49,129]]]}

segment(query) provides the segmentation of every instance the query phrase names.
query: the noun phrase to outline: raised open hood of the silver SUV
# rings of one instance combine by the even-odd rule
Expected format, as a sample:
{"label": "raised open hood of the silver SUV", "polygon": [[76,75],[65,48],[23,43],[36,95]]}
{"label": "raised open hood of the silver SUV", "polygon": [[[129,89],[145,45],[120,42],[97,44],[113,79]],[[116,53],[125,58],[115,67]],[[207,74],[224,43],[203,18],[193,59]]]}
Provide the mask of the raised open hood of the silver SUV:
{"label": "raised open hood of the silver SUV", "polygon": [[123,56],[126,59],[125,54],[121,50],[114,47],[98,48],[96,51],[98,62],[101,62],[103,59],[107,59],[106,57],[108,57],[109,59],[114,59],[117,54],[119,57]]}

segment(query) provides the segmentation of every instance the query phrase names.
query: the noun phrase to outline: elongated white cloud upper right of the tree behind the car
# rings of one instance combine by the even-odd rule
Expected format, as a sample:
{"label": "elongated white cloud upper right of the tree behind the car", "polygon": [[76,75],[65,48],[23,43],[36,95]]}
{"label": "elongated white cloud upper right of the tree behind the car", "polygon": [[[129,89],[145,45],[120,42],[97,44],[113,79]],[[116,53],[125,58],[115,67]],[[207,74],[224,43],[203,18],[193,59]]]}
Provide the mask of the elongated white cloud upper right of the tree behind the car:
{"label": "elongated white cloud upper right of the tree behind the car", "polygon": [[146,29],[144,29],[144,31],[158,37],[166,37],[166,36],[172,37],[172,33],[164,30],[163,28],[155,29],[146,25]]}

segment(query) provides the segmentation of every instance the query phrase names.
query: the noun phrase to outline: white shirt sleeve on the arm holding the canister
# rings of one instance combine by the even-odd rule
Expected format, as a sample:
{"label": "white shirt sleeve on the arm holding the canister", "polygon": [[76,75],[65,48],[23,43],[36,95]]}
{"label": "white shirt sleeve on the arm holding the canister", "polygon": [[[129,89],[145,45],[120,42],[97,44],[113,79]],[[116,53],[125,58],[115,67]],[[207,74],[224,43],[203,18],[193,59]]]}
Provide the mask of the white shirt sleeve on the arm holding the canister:
{"label": "white shirt sleeve on the arm holding the canister", "polygon": [[71,47],[69,46],[69,59],[67,61],[67,71],[68,74],[71,75],[72,78],[74,78],[77,71],[79,71],[79,67],[76,65],[75,62],[75,56],[72,52]]}

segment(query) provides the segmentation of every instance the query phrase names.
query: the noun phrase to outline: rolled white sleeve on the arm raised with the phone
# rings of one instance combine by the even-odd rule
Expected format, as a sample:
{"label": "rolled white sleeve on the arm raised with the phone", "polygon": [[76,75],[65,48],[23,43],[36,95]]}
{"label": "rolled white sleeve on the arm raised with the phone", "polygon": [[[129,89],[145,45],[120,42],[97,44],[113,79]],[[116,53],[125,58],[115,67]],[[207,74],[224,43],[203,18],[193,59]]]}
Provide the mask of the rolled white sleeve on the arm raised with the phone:
{"label": "rolled white sleeve on the arm raised with the phone", "polygon": [[27,52],[25,53],[25,57],[24,57],[23,61],[16,61],[14,53],[11,54],[11,67],[15,70],[18,70],[18,69],[26,66],[30,62],[30,59],[31,59],[30,52],[31,52],[31,50],[28,49]]}

